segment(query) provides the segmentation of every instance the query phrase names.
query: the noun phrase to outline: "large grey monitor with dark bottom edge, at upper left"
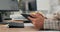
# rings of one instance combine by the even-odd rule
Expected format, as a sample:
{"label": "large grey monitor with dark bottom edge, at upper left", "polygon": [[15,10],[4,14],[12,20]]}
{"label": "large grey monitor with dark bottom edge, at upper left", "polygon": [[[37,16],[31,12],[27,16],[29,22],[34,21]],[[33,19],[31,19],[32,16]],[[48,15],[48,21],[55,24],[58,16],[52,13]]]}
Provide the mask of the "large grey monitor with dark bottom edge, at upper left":
{"label": "large grey monitor with dark bottom edge, at upper left", "polygon": [[0,0],[0,11],[18,11],[17,0]]}

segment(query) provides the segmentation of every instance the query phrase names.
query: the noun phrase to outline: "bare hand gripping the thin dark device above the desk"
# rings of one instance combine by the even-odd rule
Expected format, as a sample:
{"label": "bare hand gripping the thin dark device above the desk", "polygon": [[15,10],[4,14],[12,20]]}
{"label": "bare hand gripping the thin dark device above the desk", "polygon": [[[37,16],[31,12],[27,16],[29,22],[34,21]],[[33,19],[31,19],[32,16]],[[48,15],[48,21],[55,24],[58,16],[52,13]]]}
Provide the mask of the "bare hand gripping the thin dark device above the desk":
{"label": "bare hand gripping the thin dark device above the desk", "polygon": [[36,29],[42,29],[43,28],[43,24],[44,24],[44,16],[40,13],[36,13],[36,14],[31,14],[31,17],[28,17],[32,23],[34,24],[34,27]]}

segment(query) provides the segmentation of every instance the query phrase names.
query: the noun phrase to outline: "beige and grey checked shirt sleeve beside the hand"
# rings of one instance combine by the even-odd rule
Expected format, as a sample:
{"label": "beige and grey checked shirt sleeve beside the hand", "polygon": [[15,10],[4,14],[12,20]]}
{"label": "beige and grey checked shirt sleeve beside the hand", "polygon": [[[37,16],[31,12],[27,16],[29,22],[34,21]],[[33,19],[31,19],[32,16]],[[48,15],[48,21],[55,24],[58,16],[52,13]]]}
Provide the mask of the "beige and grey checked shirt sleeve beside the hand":
{"label": "beige and grey checked shirt sleeve beside the hand", "polygon": [[44,29],[49,30],[59,30],[59,21],[53,19],[45,19],[44,21]]}

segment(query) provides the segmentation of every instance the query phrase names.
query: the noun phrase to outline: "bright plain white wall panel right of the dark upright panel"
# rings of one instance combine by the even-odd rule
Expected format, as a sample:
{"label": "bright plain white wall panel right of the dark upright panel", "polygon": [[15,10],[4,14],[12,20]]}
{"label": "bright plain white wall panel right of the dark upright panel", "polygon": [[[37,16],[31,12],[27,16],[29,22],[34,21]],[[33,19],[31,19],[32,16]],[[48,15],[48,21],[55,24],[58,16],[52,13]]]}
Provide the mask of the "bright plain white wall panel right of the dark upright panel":
{"label": "bright plain white wall panel right of the dark upright panel", "polygon": [[36,0],[37,10],[50,10],[50,0]]}

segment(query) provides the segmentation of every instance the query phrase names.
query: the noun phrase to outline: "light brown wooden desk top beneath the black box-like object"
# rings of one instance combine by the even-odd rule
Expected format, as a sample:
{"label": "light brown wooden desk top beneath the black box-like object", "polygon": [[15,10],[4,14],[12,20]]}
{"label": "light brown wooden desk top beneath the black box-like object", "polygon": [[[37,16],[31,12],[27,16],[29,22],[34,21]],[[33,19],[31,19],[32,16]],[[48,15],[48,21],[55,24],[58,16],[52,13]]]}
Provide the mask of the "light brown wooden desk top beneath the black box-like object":
{"label": "light brown wooden desk top beneath the black box-like object", "polygon": [[[23,23],[23,21],[14,21],[14,20],[9,21]],[[21,31],[37,31],[37,30],[32,26],[29,27],[26,26],[24,28],[8,28],[7,25],[0,24],[0,32],[21,32]]]}

